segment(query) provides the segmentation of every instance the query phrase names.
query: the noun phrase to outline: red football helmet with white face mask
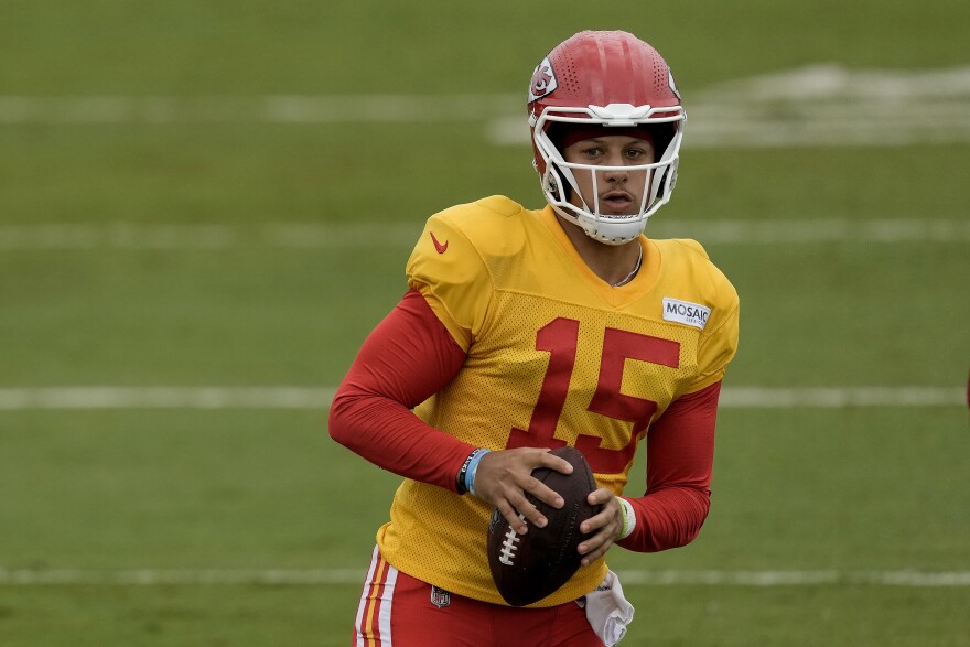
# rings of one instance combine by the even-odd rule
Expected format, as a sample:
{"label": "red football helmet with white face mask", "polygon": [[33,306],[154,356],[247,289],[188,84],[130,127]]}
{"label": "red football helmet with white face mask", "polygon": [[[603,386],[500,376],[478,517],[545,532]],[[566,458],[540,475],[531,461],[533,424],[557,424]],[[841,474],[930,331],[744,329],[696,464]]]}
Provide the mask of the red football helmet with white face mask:
{"label": "red football helmet with white face mask", "polygon": [[[528,109],[534,163],[552,208],[601,242],[622,245],[639,236],[647,218],[670,200],[687,119],[664,57],[627,32],[580,32],[536,67]],[[604,215],[597,200],[592,206],[582,200],[575,173],[591,173],[595,187],[596,171],[614,168],[567,162],[561,133],[570,125],[599,125],[607,134],[610,128],[646,127],[650,132],[654,163],[623,168],[647,171],[638,213]],[[572,192],[582,206],[570,202]]]}

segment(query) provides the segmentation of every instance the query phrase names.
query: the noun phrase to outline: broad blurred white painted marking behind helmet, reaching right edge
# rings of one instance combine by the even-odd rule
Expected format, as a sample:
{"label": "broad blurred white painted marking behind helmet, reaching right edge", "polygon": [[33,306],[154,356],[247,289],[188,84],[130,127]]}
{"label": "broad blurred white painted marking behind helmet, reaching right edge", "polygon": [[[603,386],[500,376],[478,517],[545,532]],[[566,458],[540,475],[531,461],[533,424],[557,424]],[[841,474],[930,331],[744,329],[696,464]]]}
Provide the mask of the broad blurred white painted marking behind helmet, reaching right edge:
{"label": "broad blurred white painted marking behind helmet, reaching right edge", "polygon": [[[685,106],[685,150],[966,143],[970,66],[812,65],[687,91]],[[491,123],[489,139],[525,145],[528,129],[517,116],[503,116]]]}

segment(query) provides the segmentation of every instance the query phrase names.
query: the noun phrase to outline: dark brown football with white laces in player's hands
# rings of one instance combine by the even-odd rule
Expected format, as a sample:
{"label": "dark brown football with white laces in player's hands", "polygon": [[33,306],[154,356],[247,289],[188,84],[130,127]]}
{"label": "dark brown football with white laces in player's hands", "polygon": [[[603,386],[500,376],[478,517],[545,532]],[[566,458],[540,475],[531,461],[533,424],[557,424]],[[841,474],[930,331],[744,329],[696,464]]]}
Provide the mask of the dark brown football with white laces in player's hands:
{"label": "dark brown football with white laces in player's hands", "polygon": [[545,528],[529,526],[518,535],[495,508],[488,524],[488,567],[502,597],[513,606],[525,606],[552,594],[576,572],[582,556],[576,548],[583,539],[580,524],[600,513],[603,506],[591,506],[586,496],[596,489],[593,472],[575,447],[552,450],[569,461],[572,474],[538,467],[532,476],[559,493],[562,508],[541,503],[527,494],[549,519]]}

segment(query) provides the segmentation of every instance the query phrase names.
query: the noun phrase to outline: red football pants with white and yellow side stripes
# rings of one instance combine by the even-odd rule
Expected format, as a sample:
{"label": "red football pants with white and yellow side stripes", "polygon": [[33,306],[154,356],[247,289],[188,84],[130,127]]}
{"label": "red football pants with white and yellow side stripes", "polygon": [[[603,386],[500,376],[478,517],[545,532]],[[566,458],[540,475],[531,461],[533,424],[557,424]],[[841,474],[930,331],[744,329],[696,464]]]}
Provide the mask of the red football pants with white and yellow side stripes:
{"label": "red football pants with white and yellow side stripes", "polygon": [[376,548],[353,647],[603,647],[575,602],[547,608],[488,604],[401,573]]}

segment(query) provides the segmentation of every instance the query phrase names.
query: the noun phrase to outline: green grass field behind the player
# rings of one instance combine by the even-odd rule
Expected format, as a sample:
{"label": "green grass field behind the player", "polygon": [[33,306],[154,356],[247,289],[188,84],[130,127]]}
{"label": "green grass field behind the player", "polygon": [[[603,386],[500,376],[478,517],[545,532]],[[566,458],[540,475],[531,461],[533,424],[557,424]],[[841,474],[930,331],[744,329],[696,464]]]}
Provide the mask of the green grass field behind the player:
{"label": "green grass field behind the player", "polygon": [[[560,40],[638,33],[690,115],[809,66],[966,68],[968,24],[956,0],[6,1],[0,646],[348,643],[397,478],[330,441],[328,398],[428,215],[540,204],[528,144],[489,129]],[[694,543],[611,553],[637,607],[623,645],[970,646],[970,90],[877,97],[923,107],[913,136],[850,85],[834,117],[751,112],[804,111],[818,141],[691,143],[688,125],[648,234],[697,237],[733,280],[725,396],[767,399],[725,400]],[[461,96],[474,114],[438,111]],[[274,119],[273,97],[371,117]],[[885,139],[822,137],[851,118],[888,119]],[[250,387],[319,401],[143,390]]]}

